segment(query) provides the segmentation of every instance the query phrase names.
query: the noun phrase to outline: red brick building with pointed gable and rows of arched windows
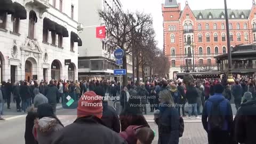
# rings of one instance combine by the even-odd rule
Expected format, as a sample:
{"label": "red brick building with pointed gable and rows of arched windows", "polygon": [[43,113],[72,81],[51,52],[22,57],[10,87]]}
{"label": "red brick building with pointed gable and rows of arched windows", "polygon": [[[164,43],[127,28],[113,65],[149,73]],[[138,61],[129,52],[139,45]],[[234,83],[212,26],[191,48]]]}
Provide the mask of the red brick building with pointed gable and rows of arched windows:
{"label": "red brick building with pointed gable and rows of arched windows", "polygon": [[[227,53],[224,9],[191,10],[188,2],[181,10],[176,0],[162,4],[164,53],[171,63],[170,78],[186,69],[217,69],[215,55]],[[256,42],[256,5],[251,10],[228,9],[231,50],[239,44]],[[193,53],[194,52],[194,53]],[[193,60],[194,58],[194,60]]]}

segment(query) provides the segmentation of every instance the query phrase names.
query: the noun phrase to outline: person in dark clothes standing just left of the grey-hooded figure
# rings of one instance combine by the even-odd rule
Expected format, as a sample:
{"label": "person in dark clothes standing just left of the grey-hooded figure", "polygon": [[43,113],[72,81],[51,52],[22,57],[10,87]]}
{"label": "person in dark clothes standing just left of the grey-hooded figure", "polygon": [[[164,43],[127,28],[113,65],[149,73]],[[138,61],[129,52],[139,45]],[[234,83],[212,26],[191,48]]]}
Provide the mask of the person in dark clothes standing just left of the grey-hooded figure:
{"label": "person in dark clothes standing just left of the grey-hooded figure", "polygon": [[24,113],[27,113],[26,109],[30,106],[31,92],[26,81],[20,86],[20,97],[22,101],[22,110]]}

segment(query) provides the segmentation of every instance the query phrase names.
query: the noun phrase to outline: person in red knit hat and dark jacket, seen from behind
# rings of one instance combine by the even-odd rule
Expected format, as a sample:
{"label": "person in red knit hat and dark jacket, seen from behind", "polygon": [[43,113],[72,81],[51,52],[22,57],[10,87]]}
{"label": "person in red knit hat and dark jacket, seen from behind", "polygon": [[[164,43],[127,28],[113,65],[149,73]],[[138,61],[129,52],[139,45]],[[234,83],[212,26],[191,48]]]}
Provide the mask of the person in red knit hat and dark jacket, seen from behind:
{"label": "person in red knit hat and dark jacket, seen from behind", "polygon": [[[51,144],[61,143],[76,143],[76,144],[124,144],[125,140],[119,137],[118,133],[110,130],[101,121],[102,117],[102,101],[101,97],[93,91],[84,93],[88,99],[78,101],[77,119],[73,124],[64,127],[57,135]],[[94,103],[94,106],[86,106],[83,103]],[[81,136],[81,133],[83,134]]]}

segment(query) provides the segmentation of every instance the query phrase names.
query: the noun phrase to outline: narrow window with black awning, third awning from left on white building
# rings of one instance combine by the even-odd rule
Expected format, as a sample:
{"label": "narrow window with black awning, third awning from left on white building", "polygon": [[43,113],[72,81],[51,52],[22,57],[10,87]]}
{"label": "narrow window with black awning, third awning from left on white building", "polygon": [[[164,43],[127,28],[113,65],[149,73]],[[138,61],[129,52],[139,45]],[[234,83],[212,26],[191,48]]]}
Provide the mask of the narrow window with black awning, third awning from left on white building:
{"label": "narrow window with black awning, third awning from left on white building", "polygon": [[37,22],[37,16],[34,11],[29,12],[29,26],[28,26],[28,37],[30,39],[35,38],[35,25]]}

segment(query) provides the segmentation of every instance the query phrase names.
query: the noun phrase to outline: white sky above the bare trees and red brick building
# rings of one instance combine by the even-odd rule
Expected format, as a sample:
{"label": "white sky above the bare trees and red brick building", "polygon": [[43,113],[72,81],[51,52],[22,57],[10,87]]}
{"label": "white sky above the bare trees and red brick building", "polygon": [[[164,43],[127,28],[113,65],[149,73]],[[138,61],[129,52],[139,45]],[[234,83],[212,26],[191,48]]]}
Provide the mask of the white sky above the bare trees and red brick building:
{"label": "white sky above the bare trees and red brick building", "polygon": [[[154,29],[158,47],[163,49],[163,17],[162,6],[164,0],[120,0],[123,5],[123,10],[143,11],[151,13],[154,20]],[[181,10],[185,7],[186,0],[177,0],[181,3]],[[224,9],[224,0],[188,0],[188,5],[191,10],[202,9]],[[228,9],[251,9],[252,0],[227,0]]]}

